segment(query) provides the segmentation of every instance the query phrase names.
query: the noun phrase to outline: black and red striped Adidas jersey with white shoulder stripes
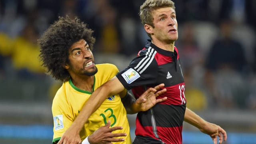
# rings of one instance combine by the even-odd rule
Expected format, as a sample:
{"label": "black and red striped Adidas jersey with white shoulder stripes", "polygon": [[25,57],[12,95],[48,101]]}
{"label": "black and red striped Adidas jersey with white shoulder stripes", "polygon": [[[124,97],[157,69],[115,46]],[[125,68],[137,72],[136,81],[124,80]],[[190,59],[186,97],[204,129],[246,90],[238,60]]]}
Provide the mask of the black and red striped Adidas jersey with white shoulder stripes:
{"label": "black and red striped Adidas jersey with white shoulder stripes", "polygon": [[147,88],[164,83],[167,96],[136,118],[134,144],[182,144],[182,123],[186,110],[185,83],[178,50],[162,50],[151,42],[141,50],[128,68],[116,74],[128,90],[138,98]]}

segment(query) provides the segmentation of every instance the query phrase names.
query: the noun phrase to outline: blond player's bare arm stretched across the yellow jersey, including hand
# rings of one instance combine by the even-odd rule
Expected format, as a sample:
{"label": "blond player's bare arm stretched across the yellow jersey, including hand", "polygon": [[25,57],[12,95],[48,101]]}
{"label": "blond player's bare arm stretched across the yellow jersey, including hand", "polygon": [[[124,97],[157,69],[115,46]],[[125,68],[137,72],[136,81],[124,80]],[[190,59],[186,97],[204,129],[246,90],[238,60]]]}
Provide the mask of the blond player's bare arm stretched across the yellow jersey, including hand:
{"label": "blond player's bare arm stretched across the yellow jersey, including hand", "polygon": [[73,124],[64,132],[58,144],[77,144],[77,142],[81,142],[79,133],[90,115],[100,107],[106,98],[123,90],[124,86],[116,76],[97,88],[84,104]]}

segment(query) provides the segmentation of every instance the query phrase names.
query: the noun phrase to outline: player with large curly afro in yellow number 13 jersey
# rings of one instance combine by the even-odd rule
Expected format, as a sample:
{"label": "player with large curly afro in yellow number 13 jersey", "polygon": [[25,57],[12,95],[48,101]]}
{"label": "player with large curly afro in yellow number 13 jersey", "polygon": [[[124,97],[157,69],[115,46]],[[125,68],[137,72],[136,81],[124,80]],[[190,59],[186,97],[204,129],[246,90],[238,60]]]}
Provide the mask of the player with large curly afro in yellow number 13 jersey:
{"label": "player with large curly afro in yellow number 13 jersey", "polygon": [[[95,39],[92,32],[78,18],[71,20],[67,16],[60,17],[39,39],[43,66],[53,78],[63,81],[52,102],[53,144],[60,140],[74,122],[92,92],[118,73],[113,64],[94,63],[91,50]],[[83,124],[82,130],[76,133],[80,135],[78,143],[85,139],[85,143],[131,144],[124,106],[129,108],[129,113],[148,110],[156,103],[166,100],[166,97],[156,100],[156,96],[166,92],[166,89],[156,92],[163,86],[164,84],[160,84],[149,88],[137,100],[126,89],[106,97],[103,104]]]}

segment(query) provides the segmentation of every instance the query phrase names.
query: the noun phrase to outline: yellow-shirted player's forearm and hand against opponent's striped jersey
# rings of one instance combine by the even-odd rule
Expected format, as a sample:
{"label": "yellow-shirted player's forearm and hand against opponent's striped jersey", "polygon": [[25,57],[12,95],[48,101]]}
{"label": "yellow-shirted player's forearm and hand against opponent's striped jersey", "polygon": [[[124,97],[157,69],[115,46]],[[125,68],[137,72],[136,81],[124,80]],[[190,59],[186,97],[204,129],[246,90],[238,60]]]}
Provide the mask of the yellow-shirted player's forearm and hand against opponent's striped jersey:
{"label": "yellow-shirted player's forearm and hand against opponent's striped jersey", "polygon": [[127,95],[122,98],[122,102],[127,114],[135,114],[140,111],[146,111],[152,108],[158,102],[166,100],[167,97],[156,99],[156,97],[166,92],[165,88],[160,90],[162,87],[164,87],[164,84],[159,84],[154,88],[148,88],[148,90],[146,90],[137,100],[132,94],[130,94],[130,92],[127,92]]}

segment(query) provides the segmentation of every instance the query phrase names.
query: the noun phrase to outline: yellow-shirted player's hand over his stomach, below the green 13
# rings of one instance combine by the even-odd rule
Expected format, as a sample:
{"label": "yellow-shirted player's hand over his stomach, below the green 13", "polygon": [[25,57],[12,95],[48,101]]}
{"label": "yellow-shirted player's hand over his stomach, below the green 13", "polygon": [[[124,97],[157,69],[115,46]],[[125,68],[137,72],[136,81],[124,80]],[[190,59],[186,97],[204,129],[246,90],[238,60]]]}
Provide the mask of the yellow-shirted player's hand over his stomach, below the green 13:
{"label": "yellow-shirted player's hand over his stomach, below the green 13", "polygon": [[126,136],[126,133],[112,133],[115,130],[122,130],[121,126],[110,127],[110,121],[105,126],[98,128],[93,134],[88,137],[90,144],[112,144],[111,142],[122,142],[124,138],[114,138]]}

